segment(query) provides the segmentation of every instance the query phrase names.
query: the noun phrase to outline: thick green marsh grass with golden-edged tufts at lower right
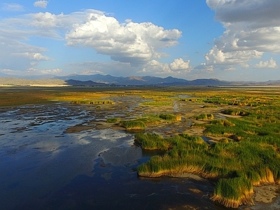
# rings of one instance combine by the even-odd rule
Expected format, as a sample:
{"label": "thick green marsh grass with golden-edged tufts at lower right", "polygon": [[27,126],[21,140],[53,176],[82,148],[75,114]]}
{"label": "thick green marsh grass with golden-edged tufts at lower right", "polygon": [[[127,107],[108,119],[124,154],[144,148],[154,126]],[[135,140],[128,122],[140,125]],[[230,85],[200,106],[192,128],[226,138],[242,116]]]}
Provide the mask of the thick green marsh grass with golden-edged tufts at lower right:
{"label": "thick green marsh grass with golden-edged tufts at lower right", "polygon": [[251,111],[225,110],[242,118],[216,119],[204,134],[220,141],[208,144],[201,137],[179,134],[164,138],[138,133],[135,142],[147,150],[166,151],[139,165],[139,176],[197,174],[216,182],[211,200],[225,207],[253,204],[253,186],[280,183],[280,115],[275,106]]}

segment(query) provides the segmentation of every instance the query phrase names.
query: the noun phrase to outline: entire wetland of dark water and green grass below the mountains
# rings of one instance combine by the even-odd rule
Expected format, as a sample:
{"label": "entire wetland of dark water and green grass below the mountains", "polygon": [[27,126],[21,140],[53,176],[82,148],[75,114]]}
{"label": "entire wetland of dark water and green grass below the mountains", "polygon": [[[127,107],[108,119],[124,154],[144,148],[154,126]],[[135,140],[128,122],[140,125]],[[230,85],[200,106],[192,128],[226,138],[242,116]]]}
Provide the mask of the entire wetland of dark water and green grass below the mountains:
{"label": "entire wetland of dark water and green grass below the mountains", "polygon": [[2,87],[4,209],[279,209],[278,87]]}

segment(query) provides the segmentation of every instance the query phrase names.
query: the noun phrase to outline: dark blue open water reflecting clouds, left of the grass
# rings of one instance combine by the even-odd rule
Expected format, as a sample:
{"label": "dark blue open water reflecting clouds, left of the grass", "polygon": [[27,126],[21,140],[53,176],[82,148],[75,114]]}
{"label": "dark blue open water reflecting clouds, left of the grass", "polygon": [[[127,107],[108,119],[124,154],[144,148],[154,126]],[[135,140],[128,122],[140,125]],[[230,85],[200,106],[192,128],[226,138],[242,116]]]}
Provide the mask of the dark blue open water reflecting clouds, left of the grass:
{"label": "dark blue open water reflecting clouds, left of the grass", "polygon": [[83,106],[0,110],[0,209],[225,209],[207,181],[137,176],[155,155],[111,128],[65,133],[106,118]]}

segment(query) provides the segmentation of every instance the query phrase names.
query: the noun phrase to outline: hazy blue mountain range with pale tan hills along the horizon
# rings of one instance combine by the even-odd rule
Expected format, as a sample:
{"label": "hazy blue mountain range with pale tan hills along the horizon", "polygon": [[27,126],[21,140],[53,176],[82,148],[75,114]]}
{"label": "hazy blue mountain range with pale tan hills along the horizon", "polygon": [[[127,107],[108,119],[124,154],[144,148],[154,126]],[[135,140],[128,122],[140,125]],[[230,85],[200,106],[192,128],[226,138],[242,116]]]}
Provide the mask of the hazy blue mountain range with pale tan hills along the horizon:
{"label": "hazy blue mountain range with pale tan hills along the horizon", "polygon": [[12,78],[6,75],[0,75],[0,85],[43,85],[44,83],[50,85],[71,85],[71,86],[101,86],[101,85],[165,85],[165,86],[255,86],[255,85],[280,85],[280,80],[269,80],[266,82],[248,82],[248,81],[225,81],[216,78],[186,80],[183,78],[174,78],[169,76],[167,78],[160,78],[155,76],[128,76],[118,77],[111,75],[93,74],[93,75],[78,75],[71,74],[69,76],[45,76],[39,78],[38,76],[27,78]]}

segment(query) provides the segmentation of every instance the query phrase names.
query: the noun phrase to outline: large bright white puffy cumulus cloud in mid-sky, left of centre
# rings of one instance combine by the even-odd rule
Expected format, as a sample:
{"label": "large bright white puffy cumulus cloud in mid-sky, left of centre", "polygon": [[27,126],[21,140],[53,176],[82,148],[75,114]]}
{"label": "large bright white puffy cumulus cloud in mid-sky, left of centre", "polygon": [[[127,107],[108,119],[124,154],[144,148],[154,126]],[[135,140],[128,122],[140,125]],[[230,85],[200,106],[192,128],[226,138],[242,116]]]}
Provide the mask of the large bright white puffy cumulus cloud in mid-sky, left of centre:
{"label": "large bright white puffy cumulus cloud in mid-sky, left of centre", "polygon": [[135,66],[160,58],[158,50],[176,45],[180,37],[178,29],[166,30],[151,22],[120,23],[116,18],[91,10],[85,23],[73,25],[66,41],[68,45],[94,48],[115,61]]}

